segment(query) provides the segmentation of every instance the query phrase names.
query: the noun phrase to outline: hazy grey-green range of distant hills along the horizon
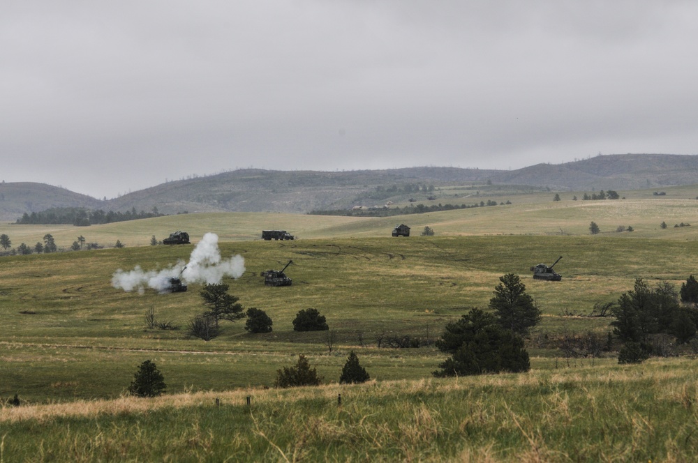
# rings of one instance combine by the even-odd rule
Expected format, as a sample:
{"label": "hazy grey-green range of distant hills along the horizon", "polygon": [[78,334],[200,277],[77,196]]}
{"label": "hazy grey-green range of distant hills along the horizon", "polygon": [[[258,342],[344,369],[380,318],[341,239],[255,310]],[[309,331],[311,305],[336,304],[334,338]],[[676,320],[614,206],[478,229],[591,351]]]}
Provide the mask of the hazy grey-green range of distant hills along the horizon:
{"label": "hazy grey-green range of distant hills along the horizon", "polygon": [[[170,181],[114,199],[101,200],[42,183],[1,183],[0,220],[47,208],[84,207],[104,211],[285,212],[350,208],[356,205],[426,200],[424,192],[404,185],[439,189],[487,185],[526,187],[533,191],[593,191],[665,188],[698,184],[697,155],[623,154],[558,165],[538,164],[516,170],[410,167],[346,172],[240,169],[211,176]],[[391,194],[391,187],[398,187]],[[413,190],[414,191],[414,190]]]}

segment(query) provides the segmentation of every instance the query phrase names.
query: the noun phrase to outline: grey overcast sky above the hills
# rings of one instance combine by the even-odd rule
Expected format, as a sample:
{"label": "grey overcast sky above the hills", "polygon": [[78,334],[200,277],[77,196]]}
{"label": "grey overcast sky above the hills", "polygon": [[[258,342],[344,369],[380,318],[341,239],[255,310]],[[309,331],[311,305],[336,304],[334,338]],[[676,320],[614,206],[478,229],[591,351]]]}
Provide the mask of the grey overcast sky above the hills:
{"label": "grey overcast sky above the hills", "polygon": [[698,153],[698,2],[7,0],[0,181]]}

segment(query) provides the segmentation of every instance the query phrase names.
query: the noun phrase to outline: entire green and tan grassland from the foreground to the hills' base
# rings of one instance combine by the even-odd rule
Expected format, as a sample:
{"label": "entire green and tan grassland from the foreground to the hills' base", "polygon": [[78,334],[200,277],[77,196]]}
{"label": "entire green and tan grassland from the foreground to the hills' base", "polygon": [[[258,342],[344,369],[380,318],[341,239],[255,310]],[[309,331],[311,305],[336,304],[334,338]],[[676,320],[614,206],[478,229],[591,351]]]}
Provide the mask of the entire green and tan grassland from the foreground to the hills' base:
{"label": "entire green and tan grassland from the foreground to the hills' base", "polygon": [[[215,213],[91,227],[2,225],[13,246],[50,233],[59,248],[81,235],[105,248],[0,257],[0,397],[22,400],[0,411],[0,457],[688,461],[698,450],[693,358],[623,366],[612,352],[570,359],[549,341],[605,338],[610,319],[589,316],[595,303],[617,301],[636,278],[678,289],[697,273],[696,190],[628,192],[614,201],[503,196],[497,200],[513,204],[389,218]],[[589,233],[591,221],[600,234]],[[392,238],[397,223],[410,225],[412,236]],[[426,226],[435,236],[420,236]],[[620,226],[633,231],[616,232]],[[149,245],[177,229],[191,245]],[[262,229],[297,239],[262,241]],[[214,340],[189,337],[189,321],[204,310],[200,284],[174,294],[112,287],[119,269],[188,261],[208,232],[218,235],[223,258],[244,258],[242,277],[224,282],[244,308],[272,317],[272,333],[248,333],[242,319],[222,321]],[[113,248],[117,240],[125,247]],[[562,281],[533,280],[530,266],[559,256]],[[292,286],[265,287],[260,272],[289,260]],[[487,309],[505,273],[521,276],[543,313],[527,344],[531,371],[432,378],[445,358],[433,341],[448,321]],[[307,308],[327,317],[329,332],[293,331]],[[179,329],[148,328],[149,311]],[[421,347],[385,347],[405,336]],[[337,384],[350,350],[368,384]],[[269,388],[299,354],[326,385]],[[163,372],[167,395],[126,395],[143,360]]]}

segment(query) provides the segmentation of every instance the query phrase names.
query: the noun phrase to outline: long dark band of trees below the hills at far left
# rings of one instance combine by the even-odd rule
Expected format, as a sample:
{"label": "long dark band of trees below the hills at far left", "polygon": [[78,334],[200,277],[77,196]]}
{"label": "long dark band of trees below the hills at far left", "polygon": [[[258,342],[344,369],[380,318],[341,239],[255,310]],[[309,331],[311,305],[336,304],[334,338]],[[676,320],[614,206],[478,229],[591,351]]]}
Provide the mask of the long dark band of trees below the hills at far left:
{"label": "long dark band of trees below the hills at far left", "polygon": [[75,225],[75,227],[89,227],[112,222],[126,222],[126,220],[147,219],[162,217],[166,214],[158,213],[158,208],[152,212],[136,212],[135,207],[126,212],[105,212],[101,209],[88,211],[82,207],[50,208],[41,212],[24,213],[17,219],[19,225]]}

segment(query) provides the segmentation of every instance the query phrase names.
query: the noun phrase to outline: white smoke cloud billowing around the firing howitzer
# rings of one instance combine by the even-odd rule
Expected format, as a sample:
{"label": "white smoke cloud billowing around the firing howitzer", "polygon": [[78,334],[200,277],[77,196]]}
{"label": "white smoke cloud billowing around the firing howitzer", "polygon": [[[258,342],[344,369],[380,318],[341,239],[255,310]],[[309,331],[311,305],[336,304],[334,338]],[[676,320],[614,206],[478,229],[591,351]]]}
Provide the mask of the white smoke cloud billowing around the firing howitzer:
{"label": "white smoke cloud billowing around the firing howitzer", "polygon": [[235,255],[230,259],[222,259],[218,250],[218,235],[207,233],[191,252],[188,262],[177,261],[171,268],[160,271],[144,271],[140,266],[135,266],[132,271],[119,268],[112,275],[112,286],[129,292],[138,291],[140,294],[145,288],[166,293],[170,291],[170,278],[181,278],[187,284],[216,284],[225,276],[237,279],[243,273],[244,257]]}

